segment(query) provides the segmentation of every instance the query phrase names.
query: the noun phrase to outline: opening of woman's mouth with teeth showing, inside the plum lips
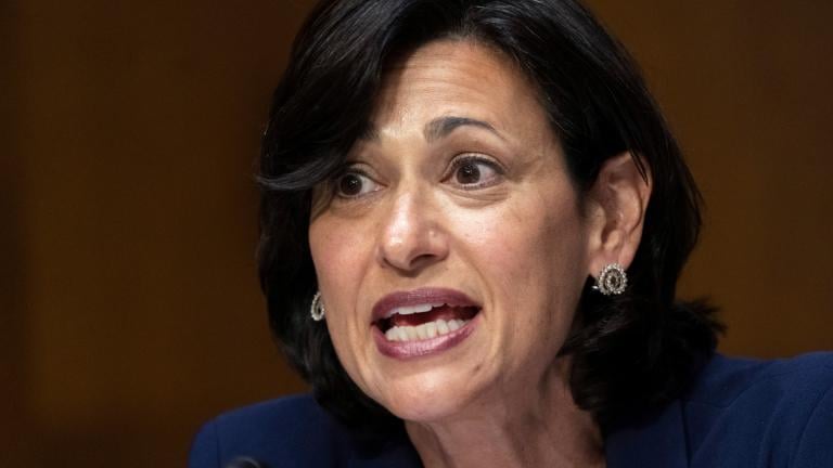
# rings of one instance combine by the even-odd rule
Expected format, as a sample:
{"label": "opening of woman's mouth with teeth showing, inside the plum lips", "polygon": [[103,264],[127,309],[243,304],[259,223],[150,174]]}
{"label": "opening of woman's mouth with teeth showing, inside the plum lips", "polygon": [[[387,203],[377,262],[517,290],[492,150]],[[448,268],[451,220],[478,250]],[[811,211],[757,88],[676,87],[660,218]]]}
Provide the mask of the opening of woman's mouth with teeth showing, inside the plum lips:
{"label": "opening of woman's mouth with teeth showing, inside the plum lips", "polygon": [[480,312],[476,306],[424,303],[398,307],[376,320],[388,341],[416,341],[449,335],[465,326]]}

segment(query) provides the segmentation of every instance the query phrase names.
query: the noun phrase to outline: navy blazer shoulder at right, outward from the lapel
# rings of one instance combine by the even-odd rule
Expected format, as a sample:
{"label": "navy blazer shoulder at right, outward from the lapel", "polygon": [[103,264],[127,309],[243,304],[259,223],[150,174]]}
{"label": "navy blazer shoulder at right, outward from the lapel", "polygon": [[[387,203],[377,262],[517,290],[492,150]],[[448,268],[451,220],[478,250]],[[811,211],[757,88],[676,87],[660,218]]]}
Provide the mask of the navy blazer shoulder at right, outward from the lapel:
{"label": "navy blazer shoulder at right, outward from the lapel", "polygon": [[833,466],[832,389],[833,353],[715,356],[681,399],[692,460],[729,466],[743,454],[767,466]]}

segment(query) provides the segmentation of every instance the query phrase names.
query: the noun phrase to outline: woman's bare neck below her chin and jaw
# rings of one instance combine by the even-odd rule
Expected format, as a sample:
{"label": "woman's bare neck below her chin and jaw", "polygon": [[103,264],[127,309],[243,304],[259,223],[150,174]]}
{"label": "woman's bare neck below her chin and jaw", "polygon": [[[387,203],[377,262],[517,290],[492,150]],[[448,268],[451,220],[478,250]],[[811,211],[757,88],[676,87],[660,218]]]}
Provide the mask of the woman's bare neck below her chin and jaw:
{"label": "woman's bare neck below her chin and jaw", "polygon": [[407,421],[424,466],[603,467],[601,432],[575,405],[567,368],[559,362],[540,385],[496,392],[440,421]]}

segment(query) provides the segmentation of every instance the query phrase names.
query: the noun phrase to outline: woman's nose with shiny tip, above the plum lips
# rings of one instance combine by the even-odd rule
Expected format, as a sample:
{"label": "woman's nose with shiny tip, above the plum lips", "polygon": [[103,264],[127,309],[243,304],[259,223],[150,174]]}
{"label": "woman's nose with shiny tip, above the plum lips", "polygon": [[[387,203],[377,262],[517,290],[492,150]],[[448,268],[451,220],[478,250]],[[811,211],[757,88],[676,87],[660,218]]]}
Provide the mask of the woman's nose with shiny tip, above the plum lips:
{"label": "woman's nose with shiny tip, above the plum lips", "polygon": [[377,259],[384,268],[412,275],[448,256],[439,207],[415,193],[400,193],[381,229]]}

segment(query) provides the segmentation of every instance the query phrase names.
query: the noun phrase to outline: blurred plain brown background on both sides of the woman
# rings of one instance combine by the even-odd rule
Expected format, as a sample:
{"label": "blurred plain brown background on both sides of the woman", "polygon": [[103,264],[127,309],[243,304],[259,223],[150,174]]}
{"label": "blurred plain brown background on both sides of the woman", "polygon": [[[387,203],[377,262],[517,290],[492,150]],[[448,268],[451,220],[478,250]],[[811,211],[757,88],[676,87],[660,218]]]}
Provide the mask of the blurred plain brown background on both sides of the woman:
{"label": "blurred plain brown background on both sides of the woman", "polygon": [[[0,2],[0,466],[183,466],[300,391],[256,284],[253,162],[309,1]],[[833,2],[594,0],[709,209],[721,349],[833,348]]]}

